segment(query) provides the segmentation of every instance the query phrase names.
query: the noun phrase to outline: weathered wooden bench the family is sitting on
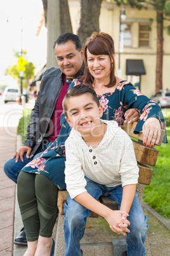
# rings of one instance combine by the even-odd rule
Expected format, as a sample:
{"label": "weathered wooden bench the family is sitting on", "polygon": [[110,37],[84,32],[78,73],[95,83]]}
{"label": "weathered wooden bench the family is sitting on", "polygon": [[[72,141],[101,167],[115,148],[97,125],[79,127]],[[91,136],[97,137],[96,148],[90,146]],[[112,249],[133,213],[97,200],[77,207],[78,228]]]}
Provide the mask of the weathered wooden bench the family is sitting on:
{"label": "weathered wooden bench the family is sitting on", "polygon": [[[139,167],[139,178],[138,178],[137,190],[138,190],[139,200],[141,203],[145,185],[150,185],[152,173],[154,171],[154,169],[152,169],[150,166],[155,166],[157,162],[159,150],[156,150],[155,148],[150,148],[150,147],[147,148],[147,146],[144,146],[142,144],[143,133],[142,132],[140,132],[140,134],[133,133],[136,127],[136,124],[137,124],[136,122],[134,122],[133,124],[124,124],[122,129],[126,131],[128,135],[132,137],[132,140],[133,140],[134,153],[135,153],[136,160],[138,162],[138,167]],[[160,140],[158,144],[159,146],[162,143],[163,137],[164,137],[164,130],[161,130]],[[134,139],[138,139],[138,141],[135,141]],[[58,191],[57,205],[58,205],[59,213],[58,213],[58,225],[57,225],[57,233],[56,233],[55,255],[60,255],[60,256],[64,255],[64,250],[65,250],[64,235],[63,235],[63,218],[64,218],[63,204],[65,204],[65,202],[67,201],[68,196],[69,196],[69,193],[67,192],[67,190]],[[101,196],[99,200],[102,204],[105,204],[110,209],[118,210],[118,204],[112,199]],[[97,218],[98,215],[92,212],[90,217]],[[147,255],[150,255],[150,248],[149,248],[147,239],[145,241],[145,247],[147,248]]]}

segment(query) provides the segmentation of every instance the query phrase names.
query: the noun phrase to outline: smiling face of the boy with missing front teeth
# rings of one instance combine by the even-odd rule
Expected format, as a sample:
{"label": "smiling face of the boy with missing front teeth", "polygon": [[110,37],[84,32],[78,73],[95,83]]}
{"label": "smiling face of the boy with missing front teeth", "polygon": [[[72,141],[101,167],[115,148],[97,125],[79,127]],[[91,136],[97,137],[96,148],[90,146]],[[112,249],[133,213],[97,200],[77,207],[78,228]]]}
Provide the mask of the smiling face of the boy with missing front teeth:
{"label": "smiling face of the boy with missing front teeth", "polygon": [[100,127],[100,117],[103,115],[103,107],[96,104],[91,94],[70,97],[67,101],[66,120],[82,136],[97,134]]}

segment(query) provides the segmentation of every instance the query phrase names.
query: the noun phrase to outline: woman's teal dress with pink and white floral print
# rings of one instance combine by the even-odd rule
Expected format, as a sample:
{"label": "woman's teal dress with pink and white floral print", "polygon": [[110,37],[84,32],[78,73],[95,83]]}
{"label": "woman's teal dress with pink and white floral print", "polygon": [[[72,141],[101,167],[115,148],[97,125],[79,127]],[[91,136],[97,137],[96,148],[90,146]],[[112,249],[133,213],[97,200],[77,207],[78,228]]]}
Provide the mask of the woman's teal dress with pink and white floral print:
{"label": "woman's teal dress with pink and white floral print", "polygon": [[[81,84],[79,80],[73,80],[70,88]],[[68,90],[69,90],[68,89]],[[142,131],[142,126],[149,117],[156,117],[160,121],[162,129],[165,129],[164,117],[160,106],[141,94],[133,85],[127,81],[122,81],[117,85],[114,92],[98,95],[100,104],[103,106],[103,120],[115,120],[120,126],[124,122],[124,113],[129,108],[135,108],[140,113],[140,120],[136,125],[134,133]],[[70,134],[70,126],[65,120],[65,115],[60,118],[61,130],[58,138],[46,149],[41,157],[32,160],[23,167],[22,171],[35,174],[44,174],[53,182],[60,190],[65,187],[65,140]],[[166,135],[163,139],[167,143]]]}

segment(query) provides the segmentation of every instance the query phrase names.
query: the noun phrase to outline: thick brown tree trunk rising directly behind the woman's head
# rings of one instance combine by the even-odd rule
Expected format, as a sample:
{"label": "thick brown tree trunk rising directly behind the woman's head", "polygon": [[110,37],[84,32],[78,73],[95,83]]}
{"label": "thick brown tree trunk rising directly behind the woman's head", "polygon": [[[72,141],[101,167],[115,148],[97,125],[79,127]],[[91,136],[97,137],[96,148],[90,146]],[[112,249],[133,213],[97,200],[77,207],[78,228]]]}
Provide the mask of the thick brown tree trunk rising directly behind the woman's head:
{"label": "thick brown tree trunk rising directly behind the woman's head", "polygon": [[99,32],[99,16],[101,2],[103,0],[81,0],[81,21],[78,36],[81,39],[82,47],[92,32]]}

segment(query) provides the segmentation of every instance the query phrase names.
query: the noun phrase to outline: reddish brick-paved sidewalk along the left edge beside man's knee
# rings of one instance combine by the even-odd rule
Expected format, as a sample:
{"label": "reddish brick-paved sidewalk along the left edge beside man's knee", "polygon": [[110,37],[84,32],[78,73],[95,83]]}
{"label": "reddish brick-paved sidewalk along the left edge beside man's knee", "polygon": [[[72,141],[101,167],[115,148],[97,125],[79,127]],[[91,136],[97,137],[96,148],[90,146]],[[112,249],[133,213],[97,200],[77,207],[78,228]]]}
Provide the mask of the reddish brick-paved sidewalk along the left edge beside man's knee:
{"label": "reddish brick-paved sidewalk along the left edge beside man's knee", "polygon": [[[16,132],[16,127],[8,127]],[[13,220],[15,213],[15,183],[3,171],[3,165],[15,152],[16,137],[6,134],[0,127],[0,255],[13,255]]]}

